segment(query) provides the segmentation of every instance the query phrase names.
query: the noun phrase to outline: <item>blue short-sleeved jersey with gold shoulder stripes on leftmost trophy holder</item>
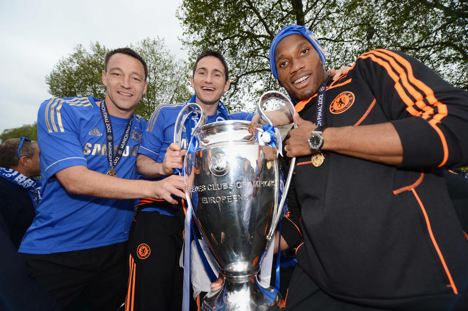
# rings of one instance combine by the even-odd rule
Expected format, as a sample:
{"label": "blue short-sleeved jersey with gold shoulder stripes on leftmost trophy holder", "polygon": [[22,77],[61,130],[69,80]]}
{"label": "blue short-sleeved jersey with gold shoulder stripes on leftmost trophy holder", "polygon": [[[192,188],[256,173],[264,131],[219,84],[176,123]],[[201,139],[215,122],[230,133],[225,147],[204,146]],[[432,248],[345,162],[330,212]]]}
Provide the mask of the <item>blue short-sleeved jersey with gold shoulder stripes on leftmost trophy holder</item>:
{"label": "blue short-sleeved jersey with gold shoulder stripes on leftmost trophy holder", "polygon": [[[19,252],[49,254],[82,250],[126,241],[134,200],[111,200],[68,193],[55,178],[75,165],[105,174],[110,170],[106,131],[95,97],[52,98],[38,112],[38,142],[42,201],[22,240]],[[131,138],[114,170],[117,177],[136,179],[136,159],[143,118],[133,115]],[[129,119],[111,116],[114,148]]]}

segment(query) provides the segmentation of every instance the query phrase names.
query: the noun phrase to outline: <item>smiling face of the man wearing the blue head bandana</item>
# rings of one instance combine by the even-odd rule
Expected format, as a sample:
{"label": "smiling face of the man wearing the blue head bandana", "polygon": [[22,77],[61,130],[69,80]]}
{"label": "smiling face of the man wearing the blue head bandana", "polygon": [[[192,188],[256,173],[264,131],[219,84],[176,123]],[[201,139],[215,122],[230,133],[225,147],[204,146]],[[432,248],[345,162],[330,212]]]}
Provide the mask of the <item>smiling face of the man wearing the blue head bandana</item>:
{"label": "smiling face of the man wearing the blue head bandana", "polygon": [[274,51],[278,82],[291,97],[300,102],[317,93],[327,79],[327,72],[312,43],[299,34],[284,37]]}

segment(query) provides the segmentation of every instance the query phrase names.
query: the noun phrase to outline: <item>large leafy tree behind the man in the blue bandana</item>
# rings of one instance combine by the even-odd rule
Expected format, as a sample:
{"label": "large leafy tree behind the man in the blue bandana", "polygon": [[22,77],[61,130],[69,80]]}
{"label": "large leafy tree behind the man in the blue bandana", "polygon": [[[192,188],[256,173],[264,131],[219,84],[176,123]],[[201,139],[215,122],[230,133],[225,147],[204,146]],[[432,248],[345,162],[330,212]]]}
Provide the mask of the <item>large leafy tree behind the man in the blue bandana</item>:
{"label": "large leafy tree behind the man in the blue bandana", "polygon": [[[467,6],[456,0],[185,0],[177,17],[193,60],[204,49],[230,64],[231,109],[278,89],[268,63],[276,32],[305,25],[322,43],[327,68],[350,65],[374,48],[401,50],[468,89]],[[457,69],[458,70],[455,70]],[[250,106],[252,107],[252,106]]]}

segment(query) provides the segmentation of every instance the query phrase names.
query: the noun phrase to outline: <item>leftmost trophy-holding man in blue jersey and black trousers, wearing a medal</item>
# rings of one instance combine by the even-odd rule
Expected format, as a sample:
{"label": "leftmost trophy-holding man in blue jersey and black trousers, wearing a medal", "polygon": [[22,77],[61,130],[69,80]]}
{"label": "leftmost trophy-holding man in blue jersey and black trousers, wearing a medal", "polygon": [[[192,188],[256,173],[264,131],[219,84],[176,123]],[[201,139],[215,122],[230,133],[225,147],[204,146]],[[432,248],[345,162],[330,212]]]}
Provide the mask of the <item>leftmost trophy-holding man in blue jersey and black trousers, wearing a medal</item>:
{"label": "leftmost trophy-holding man in blue jersey and black trousers, wearing a medal", "polygon": [[105,100],[52,98],[39,108],[42,201],[19,251],[60,308],[81,295],[95,310],[116,310],[135,199],[184,196],[179,176],[135,180],[146,122],[133,112],[147,73],[140,55],[117,49],[105,58]]}

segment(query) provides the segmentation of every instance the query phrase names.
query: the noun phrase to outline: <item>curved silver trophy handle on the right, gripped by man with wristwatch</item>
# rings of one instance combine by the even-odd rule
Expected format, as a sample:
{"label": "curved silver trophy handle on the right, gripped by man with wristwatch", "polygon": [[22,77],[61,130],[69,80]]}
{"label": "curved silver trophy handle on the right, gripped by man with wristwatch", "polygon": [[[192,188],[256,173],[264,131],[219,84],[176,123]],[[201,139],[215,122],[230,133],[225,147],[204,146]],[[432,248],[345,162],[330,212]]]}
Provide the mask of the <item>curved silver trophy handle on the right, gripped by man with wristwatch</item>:
{"label": "curved silver trophy handle on the right, gripped by man with wristwatch", "polygon": [[[291,113],[291,117],[292,117],[292,115],[295,112],[295,109],[294,109],[294,105],[292,105],[291,100],[281,92],[266,91],[262,94],[262,96],[260,96],[260,99],[258,100],[258,104],[257,104],[258,115],[263,121],[273,126],[272,120],[270,120],[270,118],[265,114],[265,111],[263,110],[263,105],[270,99],[277,99],[283,102],[288,107],[289,113]],[[294,128],[297,128],[297,124],[295,122],[293,123],[294,123]],[[281,137],[279,139],[281,139]],[[271,240],[271,238],[273,237],[274,231],[276,229],[276,224],[278,223],[279,218],[281,217],[283,205],[284,205],[284,202],[286,201],[286,196],[288,194],[289,186],[291,184],[292,173],[294,171],[295,163],[296,163],[296,158],[294,157],[291,159],[291,166],[289,169],[288,177],[286,178],[286,183],[284,184],[283,196],[281,197],[281,201],[279,202],[278,212],[276,213],[276,215],[273,215],[274,226],[272,226],[270,232],[268,233],[268,236],[267,236],[268,240]],[[279,179],[279,176],[278,176],[278,179]]]}

